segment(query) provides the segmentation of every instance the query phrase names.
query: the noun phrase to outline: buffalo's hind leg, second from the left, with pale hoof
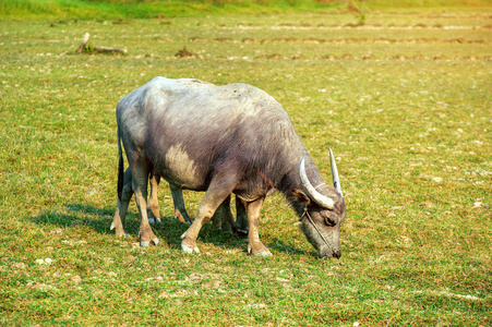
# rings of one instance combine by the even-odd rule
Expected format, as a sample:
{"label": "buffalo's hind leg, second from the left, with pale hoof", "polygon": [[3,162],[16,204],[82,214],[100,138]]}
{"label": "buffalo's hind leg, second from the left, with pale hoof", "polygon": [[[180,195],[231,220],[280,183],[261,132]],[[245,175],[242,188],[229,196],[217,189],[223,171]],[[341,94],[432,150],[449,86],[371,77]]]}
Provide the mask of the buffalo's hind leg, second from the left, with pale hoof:
{"label": "buffalo's hind leg, second from the left, with pale hoof", "polygon": [[133,192],[135,193],[135,202],[139,208],[140,215],[140,246],[146,247],[151,242],[155,245],[159,244],[159,240],[152,231],[151,225],[148,223],[147,217],[147,181],[148,181],[148,172],[142,166],[136,165],[136,167],[132,168],[132,183],[133,183]]}

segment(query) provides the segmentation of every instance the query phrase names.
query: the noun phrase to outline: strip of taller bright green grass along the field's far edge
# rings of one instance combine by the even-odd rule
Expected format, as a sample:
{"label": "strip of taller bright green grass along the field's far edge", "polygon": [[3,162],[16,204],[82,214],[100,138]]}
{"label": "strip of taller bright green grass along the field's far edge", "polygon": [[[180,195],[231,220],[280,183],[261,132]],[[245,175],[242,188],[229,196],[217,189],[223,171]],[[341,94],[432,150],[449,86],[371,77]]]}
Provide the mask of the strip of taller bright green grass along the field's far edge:
{"label": "strip of taller bright green grass along the field's far edge", "polygon": [[491,8],[489,0],[9,0],[0,2],[0,20],[122,20],[156,16],[203,16],[278,12],[372,11],[415,8]]}

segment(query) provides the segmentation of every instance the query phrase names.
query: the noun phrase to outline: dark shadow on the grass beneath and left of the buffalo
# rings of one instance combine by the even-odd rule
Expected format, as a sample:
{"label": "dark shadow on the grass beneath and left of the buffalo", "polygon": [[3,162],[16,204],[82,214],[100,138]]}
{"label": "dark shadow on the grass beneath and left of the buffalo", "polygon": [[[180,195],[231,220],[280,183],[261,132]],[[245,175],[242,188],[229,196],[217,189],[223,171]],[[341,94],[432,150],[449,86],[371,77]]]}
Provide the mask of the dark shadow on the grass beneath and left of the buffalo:
{"label": "dark shadow on the grass beneath and left of the buffalo", "polygon": [[[60,228],[75,228],[79,226],[88,227],[100,234],[111,237],[113,232],[110,230],[115,209],[97,208],[91,205],[71,203],[65,205],[67,210],[52,211],[47,210],[32,217],[31,221],[37,225],[50,225]],[[179,222],[171,216],[163,216],[161,223],[153,226],[156,237],[166,242],[171,249],[181,249],[181,234],[187,231],[188,225]],[[129,210],[124,221],[124,230],[130,238],[137,238],[140,228],[139,214]],[[112,235],[113,237],[113,235]],[[243,247],[243,242],[239,237],[221,232],[212,228],[212,223],[207,223],[202,228],[199,240],[205,243],[212,243],[226,249]]]}

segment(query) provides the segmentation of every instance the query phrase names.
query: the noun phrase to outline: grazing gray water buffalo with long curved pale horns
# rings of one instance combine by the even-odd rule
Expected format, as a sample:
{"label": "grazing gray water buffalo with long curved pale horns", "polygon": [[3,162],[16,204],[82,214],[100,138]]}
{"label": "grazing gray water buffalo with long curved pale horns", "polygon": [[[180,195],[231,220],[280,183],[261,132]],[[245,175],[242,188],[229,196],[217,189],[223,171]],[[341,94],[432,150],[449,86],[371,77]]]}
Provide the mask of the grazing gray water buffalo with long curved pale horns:
{"label": "grazing gray water buffalo with long curved pale horns", "polygon": [[140,244],[158,244],[147,210],[149,174],[183,190],[205,192],[196,218],[181,235],[185,253],[231,194],[248,216],[248,252],[271,255],[260,241],[260,211],[274,190],[285,194],[320,257],[340,257],[345,201],[332,158],[327,185],[287,112],[272,96],[247,84],[215,86],[197,80],[155,77],[117,106],[118,198],[123,192],[124,147],[141,217]]}

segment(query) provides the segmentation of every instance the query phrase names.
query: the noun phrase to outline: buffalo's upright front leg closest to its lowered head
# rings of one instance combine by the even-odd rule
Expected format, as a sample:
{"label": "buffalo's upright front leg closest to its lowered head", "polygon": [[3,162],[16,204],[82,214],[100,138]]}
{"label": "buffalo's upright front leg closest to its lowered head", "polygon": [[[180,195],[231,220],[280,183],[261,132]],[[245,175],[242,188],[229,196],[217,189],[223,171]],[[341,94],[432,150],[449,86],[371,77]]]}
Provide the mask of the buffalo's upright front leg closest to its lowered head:
{"label": "buffalo's upright front leg closest to its lowered head", "polygon": [[248,215],[248,253],[252,255],[260,256],[271,256],[272,252],[263,245],[262,241],[260,241],[259,227],[260,227],[260,211],[262,209],[263,201],[265,197],[260,197],[256,201],[249,202],[245,205],[247,215]]}

